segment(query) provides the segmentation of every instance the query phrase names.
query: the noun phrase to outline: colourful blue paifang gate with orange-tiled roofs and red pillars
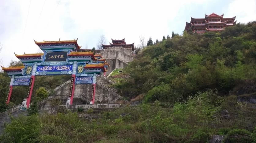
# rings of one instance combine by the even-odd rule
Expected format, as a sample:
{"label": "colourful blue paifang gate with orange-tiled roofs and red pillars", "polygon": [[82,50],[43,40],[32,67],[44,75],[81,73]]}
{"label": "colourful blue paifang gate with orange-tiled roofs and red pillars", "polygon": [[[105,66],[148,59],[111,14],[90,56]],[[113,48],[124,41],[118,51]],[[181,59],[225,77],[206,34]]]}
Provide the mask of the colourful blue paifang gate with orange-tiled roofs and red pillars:
{"label": "colourful blue paifang gate with orange-tiled roofs and red pillars", "polygon": [[[78,39],[78,38],[77,38]],[[24,66],[2,69],[11,78],[6,103],[10,102],[13,86],[29,86],[27,94],[27,107],[29,107],[35,76],[37,75],[72,75],[70,85],[70,104],[73,104],[75,84],[92,84],[92,97],[90,104],[94,104],[96,76],[106,73],[109,65],[101,55],[93,52],[74,52],[81,47],[77,39],[66,41],[37,42],[43,53],[22,54],[15,56],[21,60]]]}

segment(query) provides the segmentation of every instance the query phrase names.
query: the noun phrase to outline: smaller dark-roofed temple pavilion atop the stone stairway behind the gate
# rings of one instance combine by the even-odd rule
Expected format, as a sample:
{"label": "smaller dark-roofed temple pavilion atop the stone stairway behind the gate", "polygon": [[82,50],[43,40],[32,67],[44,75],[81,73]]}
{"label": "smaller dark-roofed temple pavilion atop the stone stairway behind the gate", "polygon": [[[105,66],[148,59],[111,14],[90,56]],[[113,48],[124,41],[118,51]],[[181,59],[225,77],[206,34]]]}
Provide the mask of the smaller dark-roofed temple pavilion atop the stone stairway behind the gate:
{"label": "smaller dark-roofed temple pavilion atop the stone stairway behind the gate", "polygon": [[134,51],[134,43],[133,44],[126,44],[124,38],[122,40],[112,40],[112,44],[109,43],[109,45],[102,44],[103,49],[107,49],[109,47],[123,47],[126,50]]}

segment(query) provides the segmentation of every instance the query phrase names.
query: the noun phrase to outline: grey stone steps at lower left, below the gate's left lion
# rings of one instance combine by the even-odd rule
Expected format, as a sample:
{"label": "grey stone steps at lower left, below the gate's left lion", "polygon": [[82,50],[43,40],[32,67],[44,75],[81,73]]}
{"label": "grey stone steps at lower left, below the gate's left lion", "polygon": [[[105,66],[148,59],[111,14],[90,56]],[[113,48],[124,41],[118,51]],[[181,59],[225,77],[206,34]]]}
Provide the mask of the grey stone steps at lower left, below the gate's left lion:
{"label": "grey stone steps at lower left, below the gate's left lion", "polygon": [[5,129],[5,124],[9,124],[11,122],[11,116],[15,118],[22,115],[27,116],[27,114],[28,114],[27,110],[17,110],[7,116],[0,118],[0,135],[3,133]]}

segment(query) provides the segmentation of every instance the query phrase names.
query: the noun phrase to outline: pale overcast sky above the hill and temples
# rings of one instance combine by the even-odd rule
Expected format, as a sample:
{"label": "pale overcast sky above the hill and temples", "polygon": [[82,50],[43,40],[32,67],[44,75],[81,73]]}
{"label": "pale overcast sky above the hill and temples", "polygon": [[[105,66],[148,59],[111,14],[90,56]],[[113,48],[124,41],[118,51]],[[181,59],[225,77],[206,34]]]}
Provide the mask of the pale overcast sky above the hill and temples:
{"label": "pale overcast sky above the hill and temples", "polygon": [[36,53],[34,43],[43,40],[73,40],[82,48],[96,47],[100,35],[108,42],[125,38],[127,44],[144,35],[162,40],[172,31],[182,34],[190,16],[205,14],[236,16],[237,22],[256,20],[256,0],[0,0],[2,65],[16,54]]}

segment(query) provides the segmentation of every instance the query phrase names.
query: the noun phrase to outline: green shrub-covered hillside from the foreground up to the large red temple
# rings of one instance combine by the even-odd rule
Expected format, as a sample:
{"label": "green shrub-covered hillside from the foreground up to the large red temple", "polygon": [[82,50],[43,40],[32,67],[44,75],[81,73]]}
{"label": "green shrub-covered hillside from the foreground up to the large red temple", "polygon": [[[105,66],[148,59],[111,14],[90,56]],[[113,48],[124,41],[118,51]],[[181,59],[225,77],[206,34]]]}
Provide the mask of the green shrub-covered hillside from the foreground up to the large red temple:
{"label": "green shrub-covered hillside from the foreground up to the large red temple", "polygon": [[115,85],[144,104],[92,120],[77,113],[12,119],[0,141],[205,143],[218,134],[230,143],[256,142],[255,104],[238,102],[256,96],[255,39],[252,22],[150,42]]}

